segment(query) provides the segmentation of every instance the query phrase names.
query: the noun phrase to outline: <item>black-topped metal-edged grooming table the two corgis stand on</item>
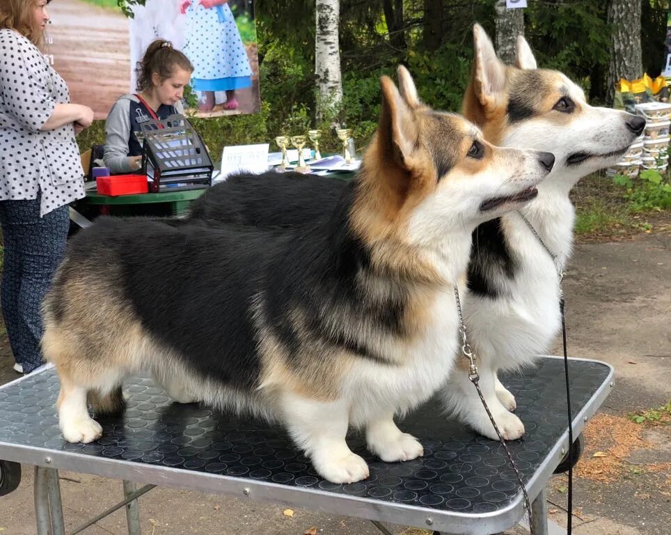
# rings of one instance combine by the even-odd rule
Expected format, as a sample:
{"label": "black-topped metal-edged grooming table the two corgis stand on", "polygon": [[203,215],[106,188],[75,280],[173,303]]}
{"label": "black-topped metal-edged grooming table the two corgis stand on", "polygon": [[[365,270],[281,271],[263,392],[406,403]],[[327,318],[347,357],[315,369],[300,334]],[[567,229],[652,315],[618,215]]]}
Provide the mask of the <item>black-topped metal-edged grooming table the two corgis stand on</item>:
{"label": "black-topped metal-edged grooming table the two corgis stand on", "polygon": [[[542,357],[524,375],[502,378],[516,396],[526,427],[523,439],[508,444],[533,502],[538,535],[548,533],[546,483],[569,448],[563,369],[563,359]],[[613,387],[613,369],[570,359],[569,371],[577,438]],[[369,463],[370,477],[336,485],[319,478],[282,428],[173,403],[145,378],[125,384],[129,401],[123,416],[98,420],[104,430],[100,440],[68,444],[58,429],[58,389],[52,368],[0,387],[0,459],[35,465],[39,535],[64,533],[58,470],[123,479],[127,500],[122,504],[132,505],[127,510],[131,535],[139,534],[135,499],[152,485],[311,507],[443,534],[497,534],[525,513],[500,444],[442,417],[435,400],[400,424],[421,440],[422,458],[383,463],[353,435],[350,447]],[[18,465],[5,463],[6,470],[12,466]],[[136,491],[132,481],[150,486]]]}

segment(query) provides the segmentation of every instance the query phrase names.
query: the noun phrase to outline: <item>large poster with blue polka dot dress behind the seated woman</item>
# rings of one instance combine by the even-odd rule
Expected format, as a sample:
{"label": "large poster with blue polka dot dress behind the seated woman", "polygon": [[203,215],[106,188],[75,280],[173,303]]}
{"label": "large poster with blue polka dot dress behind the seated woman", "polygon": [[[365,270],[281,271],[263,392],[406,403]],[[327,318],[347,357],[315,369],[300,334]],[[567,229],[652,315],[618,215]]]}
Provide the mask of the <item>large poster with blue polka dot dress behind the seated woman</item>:
{"label": "large poster with blue polka dot dress behind the seated woman", "polygon": [[[58,0],[49,3],[47,58],[72,102],[104,119],[116,99],[136,93],[136,65],[162,38],[194,72],[187,114],[216,117],[260,109],[253,0]],[[126,12],[127,14],[125,14]]]}

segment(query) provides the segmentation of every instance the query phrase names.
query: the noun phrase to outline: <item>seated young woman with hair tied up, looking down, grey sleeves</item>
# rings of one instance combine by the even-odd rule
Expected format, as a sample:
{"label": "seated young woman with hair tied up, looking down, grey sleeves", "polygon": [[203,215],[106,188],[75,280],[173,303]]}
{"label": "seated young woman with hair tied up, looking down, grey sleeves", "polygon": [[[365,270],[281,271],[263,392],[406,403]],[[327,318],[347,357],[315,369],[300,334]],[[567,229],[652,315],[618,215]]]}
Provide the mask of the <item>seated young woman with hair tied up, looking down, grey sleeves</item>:
{"label": "seated young woman with hair tied up, looking down, grey sleeves", "polygon": [[104,162],[112,174],[141,168],[142,123],[184,113],[182,96],[192,72],[187,56],[170,41],[157,39],[149,45],[137,65],[139,92],[118,98],[107,116]]}

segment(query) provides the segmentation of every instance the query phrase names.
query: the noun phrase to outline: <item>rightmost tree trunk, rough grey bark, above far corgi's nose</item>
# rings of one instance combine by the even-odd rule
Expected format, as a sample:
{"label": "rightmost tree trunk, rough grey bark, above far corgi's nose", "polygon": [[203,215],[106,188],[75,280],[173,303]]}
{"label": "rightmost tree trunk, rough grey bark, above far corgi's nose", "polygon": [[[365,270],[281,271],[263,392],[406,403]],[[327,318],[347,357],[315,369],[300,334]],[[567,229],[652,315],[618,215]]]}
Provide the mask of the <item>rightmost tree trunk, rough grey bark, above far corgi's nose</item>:
{"label": "rightmost tree trunk, rough grey bark, above far corgi's nose", "polygon": [[613,31],[608,63],[608,104],[613,103],[615,84],[620,78],[633,80],[643,75],[640,11],[640,0],[611,0],[608,6],[608,24]]}

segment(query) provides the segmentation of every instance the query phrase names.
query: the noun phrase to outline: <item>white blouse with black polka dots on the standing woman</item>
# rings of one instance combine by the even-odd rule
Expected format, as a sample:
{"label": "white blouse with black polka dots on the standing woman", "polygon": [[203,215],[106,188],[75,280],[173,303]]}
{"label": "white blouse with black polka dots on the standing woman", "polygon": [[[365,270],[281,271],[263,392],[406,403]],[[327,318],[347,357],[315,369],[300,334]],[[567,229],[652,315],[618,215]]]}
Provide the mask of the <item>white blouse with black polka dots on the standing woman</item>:
{"label": "white blouse with black polka dots on the standing woman", "polygon": [[40,130],[56,104],[68,102],[68,86],[38,47],[0,29],[0,200],[36,199],[41,191],[45,215],[84,196],[74,125]]}

